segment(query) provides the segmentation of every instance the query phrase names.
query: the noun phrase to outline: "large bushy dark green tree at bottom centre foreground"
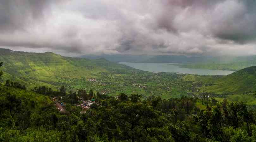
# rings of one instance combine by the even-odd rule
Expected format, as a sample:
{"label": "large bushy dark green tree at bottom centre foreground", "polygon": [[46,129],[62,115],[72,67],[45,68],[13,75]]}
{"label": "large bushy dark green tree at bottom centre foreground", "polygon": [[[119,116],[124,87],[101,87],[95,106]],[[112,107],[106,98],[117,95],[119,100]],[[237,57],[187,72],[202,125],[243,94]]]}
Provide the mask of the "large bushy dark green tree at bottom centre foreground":
{"label": "large bushy dark green tree at bottom centre foreground", "polygon": [[118,105],[116,121],[120,126],[119,140],[168,141],[170,133],[164,130],[167,120],[152,106],[141,103],[122,102]]}

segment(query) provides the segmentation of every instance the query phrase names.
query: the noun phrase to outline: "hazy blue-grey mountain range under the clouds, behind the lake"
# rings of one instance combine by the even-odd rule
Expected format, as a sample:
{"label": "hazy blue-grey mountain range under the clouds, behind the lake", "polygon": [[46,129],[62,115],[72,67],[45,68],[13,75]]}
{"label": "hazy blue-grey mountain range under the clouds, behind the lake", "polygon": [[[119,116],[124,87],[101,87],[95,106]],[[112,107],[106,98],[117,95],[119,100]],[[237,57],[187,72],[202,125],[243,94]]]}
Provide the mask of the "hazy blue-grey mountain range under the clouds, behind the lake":
{"label": "hazy blue-grey mountain range under the clouds, behind the lake", "polygon": [[232,63],[256,62],[256,56],[184,56],[184,55],[83,55],[80,58],[105,58],[111,62],[141,62],[141,63]]}

